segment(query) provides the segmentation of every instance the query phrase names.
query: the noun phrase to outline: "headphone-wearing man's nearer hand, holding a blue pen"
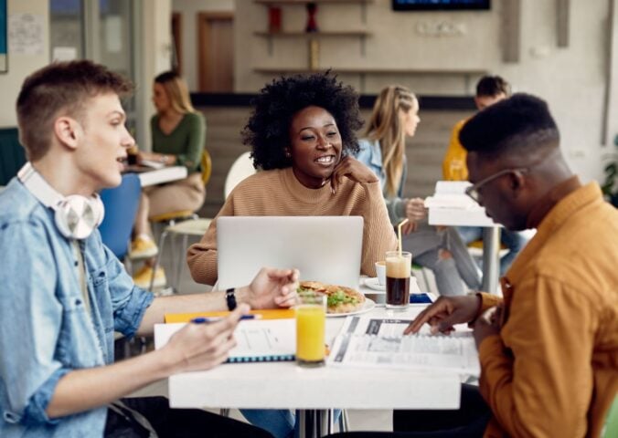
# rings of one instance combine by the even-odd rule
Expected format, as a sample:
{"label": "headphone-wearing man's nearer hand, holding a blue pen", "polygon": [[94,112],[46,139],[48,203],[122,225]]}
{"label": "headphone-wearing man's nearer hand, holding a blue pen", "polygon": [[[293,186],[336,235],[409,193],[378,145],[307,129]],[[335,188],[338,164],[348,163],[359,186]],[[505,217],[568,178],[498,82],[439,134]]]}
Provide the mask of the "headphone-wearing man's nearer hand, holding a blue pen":
{"label": "headphone-wearing man's nearer hand, holding a blue pen", "polygon": [[234,329],[249,306],[240,304],[228,317],[208,324],[189,323],[169,339],[163,350],[171,360],[172,370],[186,372],[209,370],[228,359],[229,350],[236,346]]}

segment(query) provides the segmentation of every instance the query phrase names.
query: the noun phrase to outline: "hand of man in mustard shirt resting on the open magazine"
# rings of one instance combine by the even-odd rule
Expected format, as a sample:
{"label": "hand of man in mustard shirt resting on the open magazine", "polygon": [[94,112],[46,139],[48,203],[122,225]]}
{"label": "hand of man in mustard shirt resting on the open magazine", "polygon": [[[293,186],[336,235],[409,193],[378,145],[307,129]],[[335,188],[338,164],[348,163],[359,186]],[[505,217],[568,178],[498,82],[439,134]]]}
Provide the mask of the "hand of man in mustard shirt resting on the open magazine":
{"label": "hand of man in mustard shirt resting on the open magazine", "polygon": [[426,322],[432,327],[432,334],[451,333],[455,324],[472,321],[480,307],[481,297],[477,295],[439,297],[410,323],[403,334],[418,333]]}

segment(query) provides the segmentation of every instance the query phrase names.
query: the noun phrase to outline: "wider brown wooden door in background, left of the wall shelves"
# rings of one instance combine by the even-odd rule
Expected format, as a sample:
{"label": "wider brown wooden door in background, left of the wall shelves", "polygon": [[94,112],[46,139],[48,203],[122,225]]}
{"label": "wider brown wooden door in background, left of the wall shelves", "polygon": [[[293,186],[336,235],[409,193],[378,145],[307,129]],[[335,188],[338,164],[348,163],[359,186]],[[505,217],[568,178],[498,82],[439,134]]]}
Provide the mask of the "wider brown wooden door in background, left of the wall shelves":
{"label": "wider brown wooden door in background, left of the wall shelves", "polygon": [[234,15],[203,12],[197,16],[199,90],[225,93],[234,90]]}

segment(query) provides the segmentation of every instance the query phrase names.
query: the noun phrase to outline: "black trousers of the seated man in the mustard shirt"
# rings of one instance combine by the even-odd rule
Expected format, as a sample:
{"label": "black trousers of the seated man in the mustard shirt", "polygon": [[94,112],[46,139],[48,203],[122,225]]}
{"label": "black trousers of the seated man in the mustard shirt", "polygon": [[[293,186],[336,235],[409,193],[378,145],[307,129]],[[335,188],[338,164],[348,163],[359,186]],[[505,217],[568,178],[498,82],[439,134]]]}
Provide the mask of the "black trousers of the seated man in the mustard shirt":
{"label": "black trousers of the seated man in the mustard shirt", "polygon": [[457,411],[395,411],[395,432],[350,432],[329,435],[340,438],[478,438],[485,432],[491,410],[478,388],[462,385],[462,399]]}

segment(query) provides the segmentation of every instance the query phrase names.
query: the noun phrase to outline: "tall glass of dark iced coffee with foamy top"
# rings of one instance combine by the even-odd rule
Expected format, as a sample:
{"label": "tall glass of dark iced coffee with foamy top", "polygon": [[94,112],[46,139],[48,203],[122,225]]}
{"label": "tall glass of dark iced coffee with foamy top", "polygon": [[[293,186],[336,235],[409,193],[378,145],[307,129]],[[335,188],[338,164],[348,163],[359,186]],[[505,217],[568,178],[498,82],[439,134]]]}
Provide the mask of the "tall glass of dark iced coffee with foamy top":
{"label": "tall glass of dark iced coffee with foamy top", "polygon": [[387,308],[407,308],[410,304],[410,267],[412,254],[407,251],[388,251]]}

